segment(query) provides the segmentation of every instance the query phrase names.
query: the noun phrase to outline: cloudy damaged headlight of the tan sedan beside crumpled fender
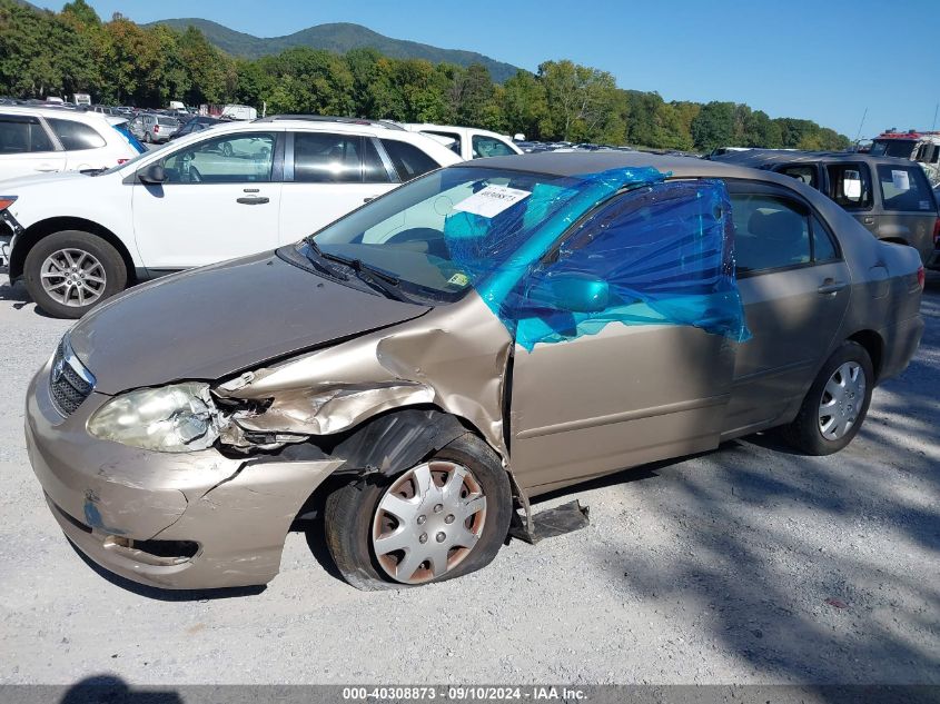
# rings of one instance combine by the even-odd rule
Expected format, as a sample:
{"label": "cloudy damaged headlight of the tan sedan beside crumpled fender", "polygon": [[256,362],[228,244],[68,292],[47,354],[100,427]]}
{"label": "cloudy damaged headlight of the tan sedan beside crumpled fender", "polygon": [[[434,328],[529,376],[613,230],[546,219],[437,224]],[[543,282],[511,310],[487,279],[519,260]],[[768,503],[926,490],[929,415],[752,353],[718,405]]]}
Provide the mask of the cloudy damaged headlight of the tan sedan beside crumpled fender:
{"label": "cloudy damaged headlight of the tan sedan beside crumpled fender", "polygon": [[102,440],[162,453],[205,449],[219,436],[209,385],[198,381],[116,396],[88,420]]}

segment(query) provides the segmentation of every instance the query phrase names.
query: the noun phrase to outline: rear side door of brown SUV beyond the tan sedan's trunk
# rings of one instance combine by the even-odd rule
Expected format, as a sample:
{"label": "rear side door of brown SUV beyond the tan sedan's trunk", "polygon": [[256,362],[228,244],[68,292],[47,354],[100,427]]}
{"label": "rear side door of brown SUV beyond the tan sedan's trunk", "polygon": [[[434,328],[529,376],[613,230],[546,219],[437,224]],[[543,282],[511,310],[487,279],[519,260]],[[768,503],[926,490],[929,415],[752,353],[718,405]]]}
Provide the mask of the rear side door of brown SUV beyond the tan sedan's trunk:
{"label": "rear side door of brown SUV beyond the tan sedan's trunk", "polygon": [[927,175],[917,162],[879,163],[875,189],[881,199],[874,235],[879,239],[903,241],[920,252],[921,261],[933,254],[937,202]]}

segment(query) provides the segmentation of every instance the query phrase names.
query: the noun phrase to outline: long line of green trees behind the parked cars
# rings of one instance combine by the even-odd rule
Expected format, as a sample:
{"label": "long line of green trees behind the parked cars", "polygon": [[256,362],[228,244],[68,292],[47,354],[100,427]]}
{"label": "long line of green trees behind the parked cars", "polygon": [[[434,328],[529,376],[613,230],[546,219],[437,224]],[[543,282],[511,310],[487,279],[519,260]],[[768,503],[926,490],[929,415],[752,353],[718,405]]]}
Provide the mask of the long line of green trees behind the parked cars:
{"label": "long line of green trees behind the parked cars", "polygon": [[117,13],[101,21],[85,0],[61,12],[0,0],[0,95],[76,92],[105,105],[266,103],[268,113],[459,123],[528,139],[657,149],[849,145],[812,120],[771,119],[735,102],[665,101],[617,88],[610,72],[570,60],[520,70],[502,85],[481,65],[393,59],[372,49],[294,48],[250,60],[226,54],[194,27],[144,27]]}

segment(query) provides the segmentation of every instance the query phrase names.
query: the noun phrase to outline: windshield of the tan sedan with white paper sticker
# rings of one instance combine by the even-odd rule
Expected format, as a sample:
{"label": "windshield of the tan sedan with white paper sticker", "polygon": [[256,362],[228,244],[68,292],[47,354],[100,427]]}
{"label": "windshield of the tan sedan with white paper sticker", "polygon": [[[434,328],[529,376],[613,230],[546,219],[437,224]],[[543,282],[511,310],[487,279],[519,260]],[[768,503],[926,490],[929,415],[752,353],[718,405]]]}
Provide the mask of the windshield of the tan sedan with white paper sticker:
{"label": "windshield of the tan sedan with white paper sticker", "polygon": [[413,294],[456,300],[472,284],[472,272],[456,262],[466,251],[456,249],[485,248],[488,265],[497,268],[580,186],[577,178],[452,167],[392,191],[297,248],[308,259],[352,262],[393,277]]}

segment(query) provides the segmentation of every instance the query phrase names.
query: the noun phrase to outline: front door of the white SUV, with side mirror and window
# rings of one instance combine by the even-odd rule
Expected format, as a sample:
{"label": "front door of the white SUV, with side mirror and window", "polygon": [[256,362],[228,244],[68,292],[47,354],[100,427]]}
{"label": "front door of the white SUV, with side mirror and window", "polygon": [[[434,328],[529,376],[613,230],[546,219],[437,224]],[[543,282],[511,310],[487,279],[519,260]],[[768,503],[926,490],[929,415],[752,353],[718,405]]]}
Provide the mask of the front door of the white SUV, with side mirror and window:
{"label": "front door of the white SUV, with side mirror and window", "polygon": [[278,135],[236,132],[187,145],[160,161],[164,184],[133,185],[133,231],[148,269],[186,269],[278,246]]}

